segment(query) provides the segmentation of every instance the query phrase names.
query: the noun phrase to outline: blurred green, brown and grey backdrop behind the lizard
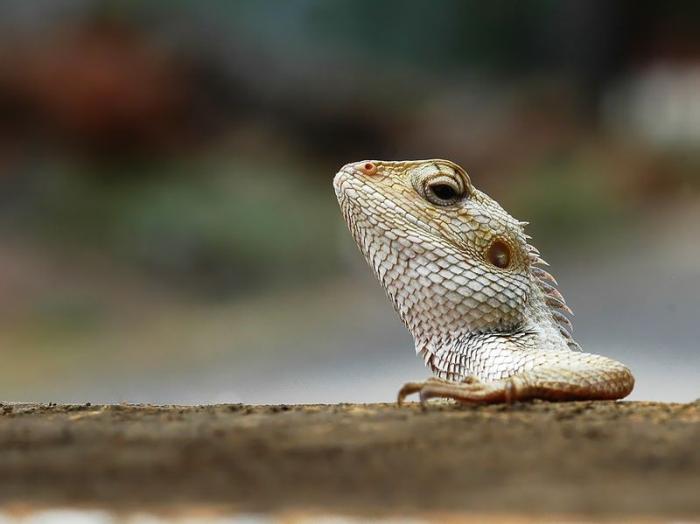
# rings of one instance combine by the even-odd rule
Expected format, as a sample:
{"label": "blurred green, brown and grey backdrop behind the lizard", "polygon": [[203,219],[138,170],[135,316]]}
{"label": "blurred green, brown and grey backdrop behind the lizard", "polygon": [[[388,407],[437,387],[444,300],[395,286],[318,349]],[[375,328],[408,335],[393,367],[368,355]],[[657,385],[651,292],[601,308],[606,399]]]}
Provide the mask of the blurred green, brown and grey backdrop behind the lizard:
{"label": "blurred green, brown and grey backdrop behind the lizard", "polygon": [[633,399],[700,396],[700,4],[2,0],[0,399],[393,401],[331,180],[449,158]]}

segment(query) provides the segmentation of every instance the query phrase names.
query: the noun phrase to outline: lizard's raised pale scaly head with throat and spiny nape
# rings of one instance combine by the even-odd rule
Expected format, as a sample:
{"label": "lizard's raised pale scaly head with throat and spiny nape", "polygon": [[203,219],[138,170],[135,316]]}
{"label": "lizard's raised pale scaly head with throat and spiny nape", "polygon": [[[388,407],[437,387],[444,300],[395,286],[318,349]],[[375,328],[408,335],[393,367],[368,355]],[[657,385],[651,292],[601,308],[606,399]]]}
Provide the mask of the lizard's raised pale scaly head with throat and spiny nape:
{"label": "lizard's raised pale scaly head with throat and spiny nape", "polygon": [[448,160],[347,164],[334,188],[348,227],[416,345],[539,332],[575,344],[524,222]]}

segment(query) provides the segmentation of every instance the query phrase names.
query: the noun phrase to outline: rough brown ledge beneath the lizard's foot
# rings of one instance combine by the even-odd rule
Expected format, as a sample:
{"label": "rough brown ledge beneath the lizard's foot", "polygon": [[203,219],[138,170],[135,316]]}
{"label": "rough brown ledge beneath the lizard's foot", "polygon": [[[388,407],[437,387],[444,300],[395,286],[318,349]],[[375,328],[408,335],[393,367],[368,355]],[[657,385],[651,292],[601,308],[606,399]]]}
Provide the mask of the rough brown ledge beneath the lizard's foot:
{"label": "rough brown ledge beneath the lizard's foot", "polygon": [[0,404],[0,506],[700,516],[700,401]]}

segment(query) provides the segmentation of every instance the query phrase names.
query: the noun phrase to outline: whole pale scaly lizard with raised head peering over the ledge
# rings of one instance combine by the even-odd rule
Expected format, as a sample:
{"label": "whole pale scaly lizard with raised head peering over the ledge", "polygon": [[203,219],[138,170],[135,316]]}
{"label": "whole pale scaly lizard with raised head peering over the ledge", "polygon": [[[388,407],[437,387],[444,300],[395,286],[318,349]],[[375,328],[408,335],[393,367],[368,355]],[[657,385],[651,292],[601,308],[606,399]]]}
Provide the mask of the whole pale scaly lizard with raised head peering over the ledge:
{"label": "whole pale scaly lizard with raised head peering over the ledge", "polygon": [[449,160],[365,160],[333,179],[342,215],[433,376],[405,384],[462,403],[614,400],[634,376],[582,351],[571,309],[525,233]]}

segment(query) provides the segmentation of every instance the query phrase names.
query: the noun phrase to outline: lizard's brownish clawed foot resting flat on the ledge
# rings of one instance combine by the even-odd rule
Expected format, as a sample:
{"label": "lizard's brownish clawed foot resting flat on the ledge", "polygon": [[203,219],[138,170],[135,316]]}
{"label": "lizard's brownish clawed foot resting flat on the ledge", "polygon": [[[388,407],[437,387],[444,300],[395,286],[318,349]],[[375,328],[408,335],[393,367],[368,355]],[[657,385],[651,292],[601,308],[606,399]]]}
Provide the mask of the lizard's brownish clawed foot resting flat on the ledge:
{"label": "lizard's brownish clawed foot resting flat on the ledge", "polygon": [[431,398],[450,398],[464,404],[510,404],[517,398],[512,380],[481,382],[476,377],[467,377],[462,382],[436,377],[425,382],[408,382],[399,391],[398,404],[401,405],[413,393],[419,394],[423,406]]}

